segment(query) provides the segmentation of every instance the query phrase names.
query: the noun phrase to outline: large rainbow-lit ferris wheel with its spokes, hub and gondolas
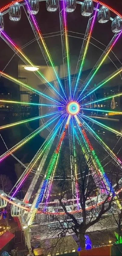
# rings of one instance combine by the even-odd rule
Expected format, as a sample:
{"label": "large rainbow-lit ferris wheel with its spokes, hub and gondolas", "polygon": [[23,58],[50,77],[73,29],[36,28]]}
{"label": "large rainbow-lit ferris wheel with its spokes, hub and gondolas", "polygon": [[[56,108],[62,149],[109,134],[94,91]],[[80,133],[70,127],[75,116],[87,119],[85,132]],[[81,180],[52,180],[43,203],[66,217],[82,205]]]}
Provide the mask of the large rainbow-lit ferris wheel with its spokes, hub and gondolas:
{"label": "large rainbow-lit ferris wheel with its spokes, hub and gondolas", "polygon": [[[105,96],[104,98],[96,97],[96,92],[98,92],[99,89],[102,88],[104,85],[107,85],[107,83],[113,81],[116,77],[119,77],[119,79],[121,80],[122,63],[120,62],[120,59],[115,55],[114,47],[118,44],[118,41],[121,40],[122,15],[120,15],[120,13],[112,9],[110,6],[105,4],[103,5],[103,3],[98,0],[84,0],[83,2],[79,2],[76,0],[46,0],[47,11],[51,12],[52,16],[53,12],[59,13],[62,63],[64,72],[63,78],[60,78],[60,74],[55,67],[53,59],[45,43],[44,36],[41,33],[36,19],[36,15],[38,15],[39,12],[41,13],[43,11],[41,10],[41,4],[41,0],[18,0],[12,1],[8,5],[5,5],[2,9],[0,9],[0,37],[7,44],[6,47],[10,47],[13,50],[14,54],[16,54],[23,61],[23,63],[25,63],[25,68],[26,66],[29,66],[30,70],[33,71],[34,75],[36,75],[38,79],[40,79],[40,81],[45,85],[45,90],[42,92],[41,90],[38,90],[37,88],[32,87],[29,84],[10,76],[9,74],[6,74],[5,71],[0,71],[2,77],[40,96],[39,103],[0,99],[0,104],[25,104],[30,106],[37,105],[39,108],[41,108],[40,115],[38,117],[33,117],[23,121],[0,126],[0,130],[5,129],[6,132],[8,132],[8,129],[10,127],[15,127],[16,125],[32,122],[34,120],[40,120],[41,122],[40,126],[35,131],[31,132],[31,134],[22,139],[16,145],[13,145],[12,148],[10,148],[9,150],[7,149],[7,151],[0,156],[0,162],[5,161],[9,156],[13,156],[17,161],[21,163],[21,161],[15,156],[16,151],[19,150],[21,147],[24,147],[26,143],[28,143],[31,139],[33,139],[36,135],[40,134],[42,131],[48,131],[46,133],[47,138],[45,139],[45,142],[37,150],[37,153],[31,160],[29,165],[27,167],[25,166],[24,172],[22,173],[21,177],[16,182],[10,193],[7,195],[4,191],[0,191],[0,208],[6,207],[7,203],[10,203],[12,205],[12,216],[17,217],[21,217],[22,212],[26,211],[27,215],[25,218],[25,224],[28,227],[32,225],[37,213],[51,213],[59,215],[65,214],[63,210],[57,213],[54,210],[54,207],[51,208],[50,201],[52,184],[54,180],[56,180],[56,171],[58,168],[58,163],[60,160],[61,150],[65,137],[69,139],[69,168],[71,170],[70,177],[73,177],[73,185],[71,189],[73,195],[75,195],[73,202],[76,206],[75,211],[72,210],[72,206],[68,207],[68,210],[70,212],[75,213],[81,211],[79,204],[79,176],[76,157],[77,144],[79,145],[81,149],[81,154],[84,155],[86,162],[88,162],[89,156],[91,156],[92,158],[91,175],[93,175],[92,172],[95,169],[96,174],[95,176],[93,176],[96,186],[97,184],[101,184],[102,182],[103,189],[101,190],[99,197],[96,199],[97,204],[102,204],[101,198],[103,197],[101,197],[101,194],[105,195],[105,191],[108,190],[108,188],[111,189],[111,193],[112,195],[114,195],[116,200],[117,194],[122,190],[121,178],[119,180],[119,190],[115,191],[114,188],[116,187],[116,184],[114,184],[111,188],[111,183],[109,181],[109,178],[105,174],[101,159],[98,158],[96,149],[92,146],[92,142],[90,139],[92,137],[92,139],[94,139],[94,141],[98,143],[98,147],[101,147],[101,149],[104,150],[104,156],[109,156],[109,161],[107,162],[107,164],[109,164],[109,162],[111,161],[112,164],[115,164],[117,168],[122,169],[122,162],[118,158],[118,154],[115,154],[113,148],[110,148],[107,145],[106,135],[104,135],[103,139],[92,126],[93,124],[97,125],[98,127],[101,127],[103,130],[107,131],[107,134],[113,133],[117,135],[117,142],[121,139],[122,133],[120,131],[104,124],[101,121],[102,119],[97,119],[96,116],[96,118],[94,118],[93,113],[94,111],[96,111],[98,116],[100,113],[104,113],[107,115],[108,113],[114,113],[118,115],[122,114],[122,112],[120,111],[114,111],[110,109],[106,110],[105,108],[103,110],[101,107],[98,107],[99,103],[103,103],[104,101],[107,101],[109,99],[112,100],[113,98],[116,99],[117,97],[122,96],[122,93],[119,92],[117,94],[111,94],[110,96]],[[75,34],[75,32],[68,31],[68,19],[70,19],[70,13],[76,13],[76,5],[81,5],[81,16],[85,16],[82,17],[82,24],[84,23],[84,19],[85,22],[87,19],[87,24],[85,28],[85,33],[82,33],[81,50],[79,53],[75,71],[72,75],[69,34],[71,35],[72,33],[71,37],[73,37],[73,33]],[[35,35],[35,40],[37,40],[39,49],[43,54],[47,67],[51,67],[51,75],[53,77],[51,81],[48,81],[48,79],[39,70],[39,68],[36,67],[35,64],[31,62],[29,57],[25,55],[25,53],[22,51],[22,47],[20,49],[10,37],[10,35],[6,33],[7,24],[5,24],[4,17],[6,15],[9,15],[9,19],[11,20],[11,22],[17,23],[21,19],[23,19],[21,10],[24,10],[26,14],[26,18],[31,26],[32,32]],[[97,39],[94,39],[92,34],[94,32],[96,24],[97,27],[99,27],[99,31],[101,31],[101,24],[99,23],[103,23],[102,26],[106,26],[106,24],[104,23],[107,22],[110,29],[112,29],[113,36],[112,38],[110,38],[108,44],[105,45],[99,42]],[[97,31],[97,33],[99,33],[99,31]],[[98,57],[96,63],[94,63],[92,59],[94,63],[92,69],[90,70],[89,74],[87,74],[87,76],[82,79],[85,60],[87,58],[88,50],[91,45],[94,45],[94,51],[99,48],[102,54]],[[104,49],[101,49],[101,45],[104,46]],[[118,61],[118,66],[116,65],[116,62],[111,59],[111,53],[114,55],[114,60]],[[93,54],[95,55],[95,52],[93,52]],[[94,87],[92,81],[94,80],[95,76],[97,76],[106,59],[109,59],[110,63],[113,63],[114,72],[112,72],[112,74],[109,74],[109,76],[104,78],[104,80],[100,81]],[[49,108],[52,110],[52,112],[49,112]],[[54,150],[52,150],[53,145],[56,145]],[[86,150],[87,154],[84,154]],[[48,160],[49,155],[51,156],[50,161],[44,172],[44,166]],[[23,201],[18,200],[17,193],[23,186],[24,182],[28,180],[28,177],[31,173],[33,173],[33,179],[31,183],[28,184],[28,191],[25,195],[25,198]],[[41,182],[38,187],[38,192],[35,195],[33,202],[30,203],[30,198],[39,177],[41,177]],[[117,203],[119,207],[121,207],[118,200]],[[38,210],[40,205],[42,206],[41,211]],[[86,205],[86,207],[89,208],[88,205]]]}

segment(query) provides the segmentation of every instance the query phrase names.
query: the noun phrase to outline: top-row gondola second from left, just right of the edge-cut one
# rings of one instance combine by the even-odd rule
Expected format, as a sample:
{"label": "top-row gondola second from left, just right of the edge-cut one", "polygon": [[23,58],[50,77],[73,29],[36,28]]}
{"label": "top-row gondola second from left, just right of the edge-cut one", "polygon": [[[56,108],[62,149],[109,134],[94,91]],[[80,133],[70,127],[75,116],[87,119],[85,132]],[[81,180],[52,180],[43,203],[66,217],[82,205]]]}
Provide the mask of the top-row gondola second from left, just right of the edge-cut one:
{"label": "top-row gondola second from left, just right of the edge-cut one", "polygon": [[9,7],[9,19],[19,21],[21,19],[21,8],[19,3],[15,3]]}

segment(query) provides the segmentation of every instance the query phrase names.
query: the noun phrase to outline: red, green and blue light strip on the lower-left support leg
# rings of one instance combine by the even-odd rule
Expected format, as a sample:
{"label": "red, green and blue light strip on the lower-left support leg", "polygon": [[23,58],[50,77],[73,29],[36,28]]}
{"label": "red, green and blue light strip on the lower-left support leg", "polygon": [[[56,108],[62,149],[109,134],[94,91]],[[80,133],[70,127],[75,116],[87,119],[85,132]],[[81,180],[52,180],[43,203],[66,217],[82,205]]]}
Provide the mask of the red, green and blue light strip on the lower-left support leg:
{"label": "red, green and blue light strip on the lower-left support leg", "polygon": [[68,119],[67,119],[67,122],[66,122],[66,125],[64,127],[64,131],[63,131],[63,133],[61,135],[61,138],[60,138],[60,140],[58,142],[58,146],[57,146],[57,148],[55,150],[55,153],[53,154],[53,157],[51,158],[51,164],[49,165],[48,173],[46,175],[45,181],[43,182],[40,194],[38,196],[38,200],[37,200],[36,205],[35,205],[35,209],[32,211],[31,218],[29,219],[29,222],[28,222],[28,226],[30,226],[32,224],[32,222],[33,222],[33,220],[35,218],[35,214],[37,212],[38,206],[39,206],[39,204],[40,204],[40,202],[41,202],[41,200],[43,198],[45,190],[46,190],[46,188],[48,186],[48,183],[50,181],[51,173],[52,173],[53,168],[54,168],[54,166],[55,166],[55,164],[57,162],[58,154],[60,154],[61,145],[62,145],[62,142],[63,142],[64,137],[66,135],[66,131],[67,131],[67,128],[68,128],[68,124],[69,124],[70,118],[71,118],[71,116],[69,115]]}

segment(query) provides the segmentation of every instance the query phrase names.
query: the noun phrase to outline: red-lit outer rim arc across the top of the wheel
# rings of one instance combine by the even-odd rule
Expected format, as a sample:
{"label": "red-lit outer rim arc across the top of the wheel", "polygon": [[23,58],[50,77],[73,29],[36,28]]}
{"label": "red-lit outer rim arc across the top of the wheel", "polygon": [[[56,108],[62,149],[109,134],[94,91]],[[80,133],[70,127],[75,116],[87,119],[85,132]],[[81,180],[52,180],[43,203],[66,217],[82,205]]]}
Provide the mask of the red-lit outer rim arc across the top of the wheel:
{"label": "red-lit outer rim arc across the top of the wheel", "polygon": [[[5,5],[4,7],[2,7],[0,9],[0,12],[4,12],[6,9],[8,9],[11,5],[15,4],[15,3],[19,3],[22,2],[23,0],[15,0],[12,1],[10,3],[8,3],[8,5]],[[114,8],[110,7],[109,5],[99,1],[99,0],[93,0],[93,2],[99,3],[100,5],[104,5],[105,7],[109,8],[110,11],[112,11],[113,13],[115,13],[116,15],[120,16],[122,18],[122,14],[120,14],[119,12],[117,12]]]}

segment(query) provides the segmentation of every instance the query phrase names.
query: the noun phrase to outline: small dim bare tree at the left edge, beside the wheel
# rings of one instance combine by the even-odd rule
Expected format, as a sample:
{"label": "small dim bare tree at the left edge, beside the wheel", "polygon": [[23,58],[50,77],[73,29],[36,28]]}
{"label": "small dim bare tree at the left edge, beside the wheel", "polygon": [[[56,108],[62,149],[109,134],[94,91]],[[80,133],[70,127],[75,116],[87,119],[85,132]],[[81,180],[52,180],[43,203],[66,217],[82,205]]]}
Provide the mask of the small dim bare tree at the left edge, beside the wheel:
{"label": "small dim bare tree at the left edge, beside the wheel", "polygon": [[12,189],[12,182],[8,178],[8,176],[1,174],[0,175],[0,189],[3,190],[5,193],[10,192]]}

